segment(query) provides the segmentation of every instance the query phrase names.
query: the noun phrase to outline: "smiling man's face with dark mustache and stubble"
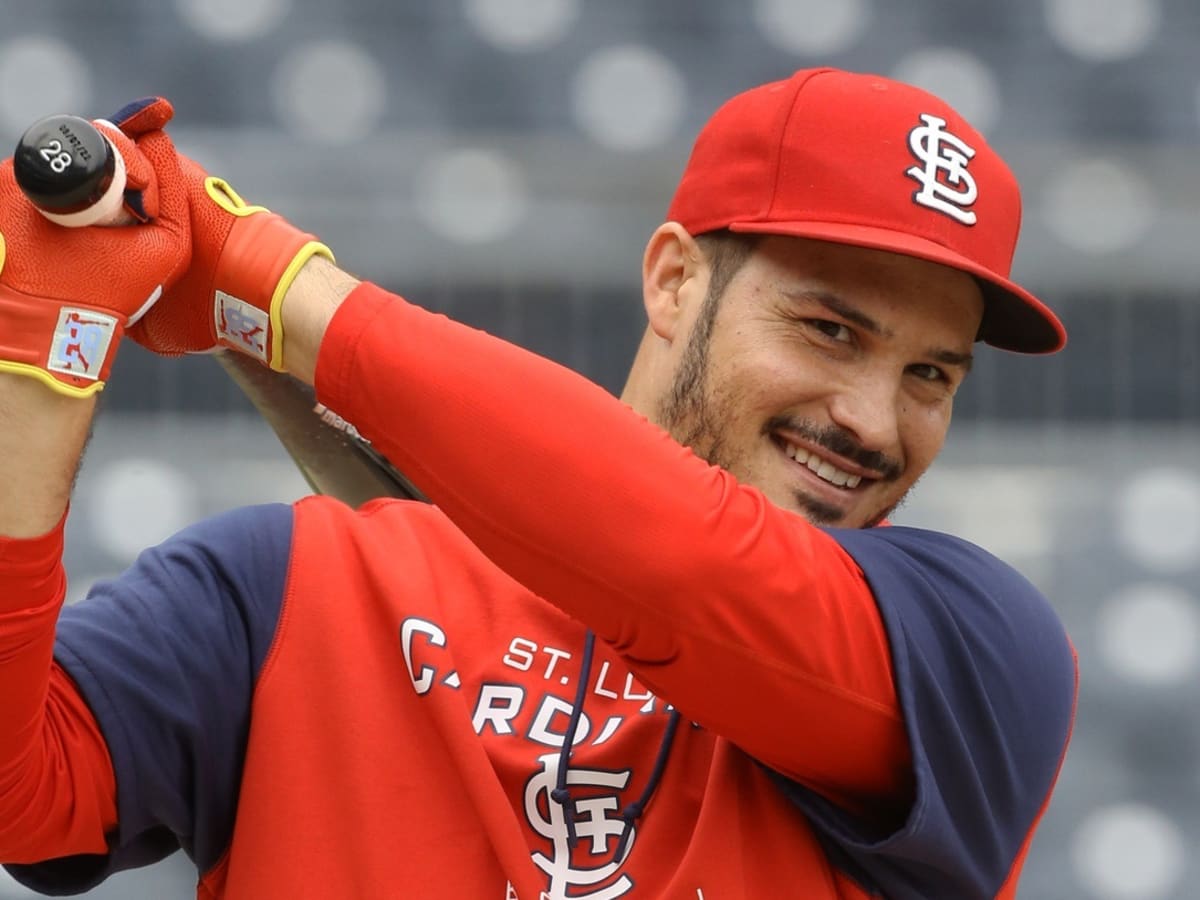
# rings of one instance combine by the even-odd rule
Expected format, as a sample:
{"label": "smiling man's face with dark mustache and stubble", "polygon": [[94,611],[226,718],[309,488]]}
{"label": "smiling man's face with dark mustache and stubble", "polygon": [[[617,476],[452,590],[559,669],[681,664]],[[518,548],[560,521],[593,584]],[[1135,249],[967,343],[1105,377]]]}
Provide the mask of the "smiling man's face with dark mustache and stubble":
{"label": "smiling man's face with dark mustache and stubble", "polygon": [[983,299],[965,272],[763,239],[690,313],[655,419],[818,524],[886,517],[942,448]]}

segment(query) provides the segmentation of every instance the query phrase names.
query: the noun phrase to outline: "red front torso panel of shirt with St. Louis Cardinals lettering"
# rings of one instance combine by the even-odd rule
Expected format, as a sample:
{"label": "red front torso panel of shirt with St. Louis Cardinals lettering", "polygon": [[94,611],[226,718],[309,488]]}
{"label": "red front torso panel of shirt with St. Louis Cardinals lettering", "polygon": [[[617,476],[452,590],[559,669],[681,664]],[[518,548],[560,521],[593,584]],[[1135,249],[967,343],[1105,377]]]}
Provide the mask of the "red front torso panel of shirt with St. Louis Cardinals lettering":
{"label": "red front torso panel of shirt with St. Louis Cardinals lettering", "polygon": [[865,896],[761,766],[686,721],[612,865],[617,810],[649,778],[667,707],[604,646],[571,758],[598,815],[570,851],[548,792],[583,626],[427,505],[310,498],[293,546],[233,841],[200,898]]}

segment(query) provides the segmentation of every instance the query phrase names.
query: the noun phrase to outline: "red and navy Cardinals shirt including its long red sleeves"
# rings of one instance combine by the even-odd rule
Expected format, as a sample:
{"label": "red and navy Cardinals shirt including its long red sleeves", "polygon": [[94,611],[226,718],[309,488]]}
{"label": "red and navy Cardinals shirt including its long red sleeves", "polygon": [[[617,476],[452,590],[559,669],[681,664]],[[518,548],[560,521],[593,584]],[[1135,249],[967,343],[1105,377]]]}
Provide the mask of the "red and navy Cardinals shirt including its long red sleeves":
{"label": "red and navy Cardinals shirt including its long red sleeves", "polygon": [[437,508],[200,523],[65,611],[54,665],[60,538],[2,548],[0,858],[70,856],[18,877],[181,845],[212,898],[1013,895],[1075,668],[1012,569],[815,528],[372,286],[317,386]]}

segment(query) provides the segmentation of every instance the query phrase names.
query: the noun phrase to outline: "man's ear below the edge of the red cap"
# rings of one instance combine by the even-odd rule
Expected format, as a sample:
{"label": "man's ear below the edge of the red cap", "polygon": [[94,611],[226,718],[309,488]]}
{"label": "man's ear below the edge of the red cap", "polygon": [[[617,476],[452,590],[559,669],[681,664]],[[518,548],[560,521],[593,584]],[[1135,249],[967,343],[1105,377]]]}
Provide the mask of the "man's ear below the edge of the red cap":
{"label": "man's ear below the edge of the red cap", "polygon": [[664,222],[642,257],[642,302],[650,330],[665,341],[679,334],[689,302],[702,300],[708,265],[696,239],[678,222]]}

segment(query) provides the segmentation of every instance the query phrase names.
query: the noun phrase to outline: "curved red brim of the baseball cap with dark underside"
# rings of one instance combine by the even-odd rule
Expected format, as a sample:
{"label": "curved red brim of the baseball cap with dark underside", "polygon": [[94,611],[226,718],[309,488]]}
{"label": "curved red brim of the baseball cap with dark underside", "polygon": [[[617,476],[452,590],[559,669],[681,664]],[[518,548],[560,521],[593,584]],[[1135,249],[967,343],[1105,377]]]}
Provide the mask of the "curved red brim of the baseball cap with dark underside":
{"label": "curved red brim of the baseball cap with dark underside", "polygon": [[984,298],[978,340],[1015,353],[1055,353],[1067,344],[1067,330],[1050,308],[1008,278],[947,250],[902,232],[832,222],[732,222],[731,232],[784,234],[848,244],[941,263],[973,275]]}

